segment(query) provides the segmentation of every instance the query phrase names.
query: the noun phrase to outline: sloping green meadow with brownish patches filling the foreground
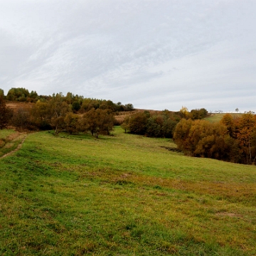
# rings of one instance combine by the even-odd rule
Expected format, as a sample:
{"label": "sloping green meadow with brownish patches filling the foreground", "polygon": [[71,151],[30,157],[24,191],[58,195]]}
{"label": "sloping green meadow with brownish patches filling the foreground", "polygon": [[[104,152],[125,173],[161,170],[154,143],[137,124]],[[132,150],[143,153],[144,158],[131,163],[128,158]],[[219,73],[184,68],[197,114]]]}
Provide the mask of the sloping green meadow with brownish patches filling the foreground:
{"label": "sloping green meadow with brownish patches filling the foreground", "polygon": [[0,159],[0,255],[256,255],[256,167],[171,146],[28,134]]}

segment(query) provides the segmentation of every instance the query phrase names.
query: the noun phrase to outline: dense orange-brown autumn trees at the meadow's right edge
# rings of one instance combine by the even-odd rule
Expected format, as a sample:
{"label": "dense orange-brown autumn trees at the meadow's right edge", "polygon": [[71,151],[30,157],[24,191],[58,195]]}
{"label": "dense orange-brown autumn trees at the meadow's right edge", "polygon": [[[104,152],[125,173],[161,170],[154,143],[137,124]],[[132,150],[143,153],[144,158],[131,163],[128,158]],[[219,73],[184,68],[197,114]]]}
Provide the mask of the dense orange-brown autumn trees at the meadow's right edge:
{"label": "dense orange-brown autumn trees at the meadow's right edge", "polygon": [[225,114],[218,123],[181,119],[174,131],[174,142],[186,155],[208,157],[240,164],[256,161],[256,116]]}

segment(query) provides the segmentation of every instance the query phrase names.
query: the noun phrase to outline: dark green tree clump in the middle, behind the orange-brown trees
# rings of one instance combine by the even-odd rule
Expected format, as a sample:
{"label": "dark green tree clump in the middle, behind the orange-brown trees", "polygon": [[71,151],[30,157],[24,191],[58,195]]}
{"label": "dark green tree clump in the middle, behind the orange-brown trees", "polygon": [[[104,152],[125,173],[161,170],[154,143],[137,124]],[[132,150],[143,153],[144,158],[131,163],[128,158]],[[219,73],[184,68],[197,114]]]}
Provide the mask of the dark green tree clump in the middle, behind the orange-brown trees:
{"label": "dark green tree clump in the middle, behind the orange-brown trees", "polygon": [[207,117],[206,109],[191,110],[188,112],[186,107],[182,107],[178,112],[164,110],[162,112],[149,111],[137,112],[124,119],[121,127],[125,132],[132,134],[142,134],[147,137],[172,138],[174,129],[181,118],[202,119]]}

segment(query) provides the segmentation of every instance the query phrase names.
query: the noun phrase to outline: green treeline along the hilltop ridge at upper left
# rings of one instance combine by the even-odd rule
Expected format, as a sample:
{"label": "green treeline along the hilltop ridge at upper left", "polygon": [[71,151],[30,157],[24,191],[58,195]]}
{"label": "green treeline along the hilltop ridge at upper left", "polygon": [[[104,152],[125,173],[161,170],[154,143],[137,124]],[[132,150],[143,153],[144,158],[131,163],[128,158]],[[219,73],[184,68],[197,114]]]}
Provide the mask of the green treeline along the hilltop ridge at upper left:
{"label": "green treeline along the hilltop ridge at upper left", "polygon": [[67,95],[63,95],[62,92],[57,93],[56,95],[38,95],[36,91],[29,92],[25,88],[11,88],[7,95],[4,95],[4,90],[0,89],[0,95],[4,97],[6,100],[17,101],[17,102],[49,102],[53,100],[55,97],[60,97],[62,102],[66,102],[70,105],[71,110],[73,112],[80,112],[84,113],[92,108],[95,110],[112,110],[113,112],[120,112],[120,111],[131,111],[134,110],[134,106],[131,103],[122,105],[121,102],[114,103],[111,100],[99,100],[99,99],[92,99],[86,98],[83,96],[73,95],[72,92],[68,92]]}

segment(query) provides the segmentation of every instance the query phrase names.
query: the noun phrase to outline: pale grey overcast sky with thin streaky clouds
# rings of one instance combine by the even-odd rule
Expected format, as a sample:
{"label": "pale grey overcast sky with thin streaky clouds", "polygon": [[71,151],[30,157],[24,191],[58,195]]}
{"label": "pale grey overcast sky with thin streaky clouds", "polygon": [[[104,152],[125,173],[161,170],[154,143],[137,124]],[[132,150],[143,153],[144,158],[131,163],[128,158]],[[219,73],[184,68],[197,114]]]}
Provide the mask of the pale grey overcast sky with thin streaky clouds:
{"label": "pale grey overcast sky with thin streaky clouds", "polygon": [[0,88],[256,112],[255,0],[0,0]]}

